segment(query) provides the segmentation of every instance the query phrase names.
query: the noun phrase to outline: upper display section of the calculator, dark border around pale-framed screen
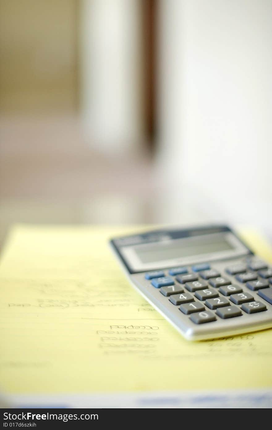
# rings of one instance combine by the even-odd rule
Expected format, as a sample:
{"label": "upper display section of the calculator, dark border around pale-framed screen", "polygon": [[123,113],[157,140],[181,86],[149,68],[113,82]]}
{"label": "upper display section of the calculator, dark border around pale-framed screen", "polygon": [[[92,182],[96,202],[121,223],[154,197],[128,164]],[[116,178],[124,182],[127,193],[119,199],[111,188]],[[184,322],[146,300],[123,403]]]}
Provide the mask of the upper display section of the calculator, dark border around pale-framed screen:
{"label": "upper display section of the calculator, dark border around pale-framed screen", "polygon": [[251,253],[226,226],[155,230],[116,238],[113,245],[130,273]]}

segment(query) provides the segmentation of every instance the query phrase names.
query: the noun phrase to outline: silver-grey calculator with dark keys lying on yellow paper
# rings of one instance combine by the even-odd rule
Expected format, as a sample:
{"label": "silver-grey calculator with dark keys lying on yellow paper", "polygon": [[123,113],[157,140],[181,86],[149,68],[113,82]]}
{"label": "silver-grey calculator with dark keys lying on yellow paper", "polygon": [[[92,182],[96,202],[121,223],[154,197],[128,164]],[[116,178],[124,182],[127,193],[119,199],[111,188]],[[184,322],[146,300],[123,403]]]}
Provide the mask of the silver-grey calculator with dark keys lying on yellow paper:
{"label": "silver-grey calculator with dark keys lying on yellow paper", "polygon": [[226,225],[113,238],[131,284],[186,339],[272,327],[272,265]]}

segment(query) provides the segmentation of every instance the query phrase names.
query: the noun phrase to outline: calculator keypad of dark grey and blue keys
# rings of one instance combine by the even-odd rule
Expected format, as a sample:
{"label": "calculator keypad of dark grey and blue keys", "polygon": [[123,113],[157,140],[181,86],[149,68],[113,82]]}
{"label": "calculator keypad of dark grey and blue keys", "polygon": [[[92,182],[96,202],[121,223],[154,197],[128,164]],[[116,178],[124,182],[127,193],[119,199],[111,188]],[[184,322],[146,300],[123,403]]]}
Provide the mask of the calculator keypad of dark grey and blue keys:
{"label": "calculator keypad of dark grey and blue keys", "polygon": [[[194,324],[214,322],[245,314],[265,312],[267,306],[255,300],[249,291],[272,304],[272,269],[263,261],[233,264],[223,269],[231,276],[222,275],[210,264],[193,267],[174,267],[165,271],[146,273],[153,287],[187,316]],[[173,278],[174,276],[175,278]],[[237,284],[234,281],[237,281]],[[270,288],[269,288],[270,285]],[[189,294],[189,293],[193,293]]]}

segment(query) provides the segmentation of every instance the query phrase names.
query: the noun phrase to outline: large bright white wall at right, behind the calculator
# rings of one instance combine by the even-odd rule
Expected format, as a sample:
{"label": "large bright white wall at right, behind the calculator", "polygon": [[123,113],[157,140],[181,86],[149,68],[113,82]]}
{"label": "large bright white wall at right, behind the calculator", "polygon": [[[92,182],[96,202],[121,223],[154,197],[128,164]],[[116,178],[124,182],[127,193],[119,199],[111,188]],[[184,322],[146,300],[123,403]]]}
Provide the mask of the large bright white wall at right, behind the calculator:
{"label": "large bright white wall at right, behind the calculator", "polygon": [[160,0],[159,221],[186,204],[272,237],[271,22],[270,0]]}

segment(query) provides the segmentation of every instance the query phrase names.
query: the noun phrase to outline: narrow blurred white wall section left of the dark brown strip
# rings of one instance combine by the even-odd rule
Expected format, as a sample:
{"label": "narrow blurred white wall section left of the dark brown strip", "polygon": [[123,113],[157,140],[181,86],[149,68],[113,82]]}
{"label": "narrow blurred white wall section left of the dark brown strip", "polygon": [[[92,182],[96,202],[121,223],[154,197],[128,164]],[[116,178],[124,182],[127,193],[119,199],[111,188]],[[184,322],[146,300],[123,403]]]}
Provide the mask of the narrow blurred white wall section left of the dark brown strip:
{"label": "narrow blurred white wall section left of the dark brown strip", "polygon": [[134,153],[143,141],[139,0],[81,0],[81,101],[92,147]]}

